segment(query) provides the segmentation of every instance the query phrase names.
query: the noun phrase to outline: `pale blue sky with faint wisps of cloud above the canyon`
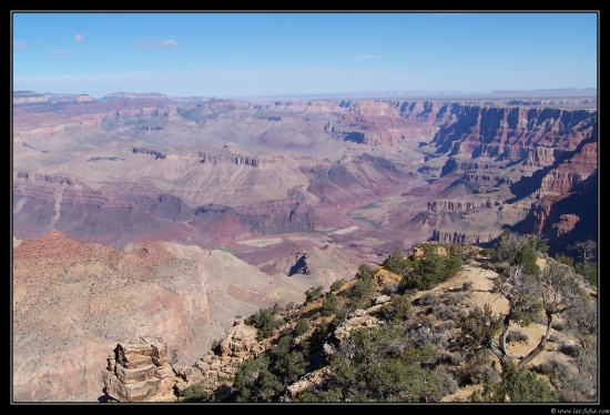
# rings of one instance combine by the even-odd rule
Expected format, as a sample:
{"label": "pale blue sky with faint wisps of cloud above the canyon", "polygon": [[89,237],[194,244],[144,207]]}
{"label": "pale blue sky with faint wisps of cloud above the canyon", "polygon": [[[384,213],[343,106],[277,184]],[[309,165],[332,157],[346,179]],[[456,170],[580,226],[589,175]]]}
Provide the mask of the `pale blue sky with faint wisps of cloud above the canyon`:
{"label": "pale blue sky with faint wisps of cloud above the canyon", "polygon": [[596,88],[590,12],[12,13],[14,91],[176,97]]}

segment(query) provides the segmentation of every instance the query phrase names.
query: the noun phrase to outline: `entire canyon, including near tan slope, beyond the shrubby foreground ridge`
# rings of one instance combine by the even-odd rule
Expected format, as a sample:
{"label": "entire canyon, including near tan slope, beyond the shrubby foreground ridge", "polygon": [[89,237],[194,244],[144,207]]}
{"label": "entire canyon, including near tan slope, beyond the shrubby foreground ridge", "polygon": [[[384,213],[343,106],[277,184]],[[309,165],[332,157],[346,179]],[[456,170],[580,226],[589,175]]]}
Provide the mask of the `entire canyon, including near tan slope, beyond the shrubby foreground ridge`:
{"label": "entire canyon, including near tan slope, beyond the shrubby foreground ridge", "polygon": [[163,337],[191,363],[236,314],[424,241],[490,246],[509,229],[573,254],[598,241],[594,93],[16,92],[14,397],[95,399],[121,338]]}

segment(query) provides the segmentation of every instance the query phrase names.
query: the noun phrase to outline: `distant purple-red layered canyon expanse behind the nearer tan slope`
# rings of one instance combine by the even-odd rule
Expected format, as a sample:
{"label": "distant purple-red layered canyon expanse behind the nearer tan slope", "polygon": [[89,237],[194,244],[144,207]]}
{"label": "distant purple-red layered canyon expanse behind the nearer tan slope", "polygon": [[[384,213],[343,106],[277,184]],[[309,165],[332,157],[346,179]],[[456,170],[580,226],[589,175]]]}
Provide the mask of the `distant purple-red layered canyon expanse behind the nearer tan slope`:
{"label": "distant purple-red layered canyon expanse behind the nearer tan slope", "polygon": [[[366,256],[419,242],[408,235],[482,241],[502,226],[548,232],[540,213],[548,208],[532,205],[536,225],[525,225],[525,216],[497,219],[494,211],[547,195],[549,206],[597,170],[597,110],[557,105],[573,105],[573,98],[545,101],[548,107],[536,100],[237,102],[161,94],[19,102],[19,239],[58,229],[118,249],[144,240],[213,247],[357,225],[363,231],[333,240],[349,239]],[[464,200],[491,193],[481,209]],[[388,199],[396,194],[405,196]],[[439,199],[468,212],[448,215]],[[363,209],[369,205],[380,209]],[[486,224],[480,233],[468,224],[471,209],[487,211],[476,216]],[[366,223],[379,231],[365,234]],[[549,232],[543,236],[555,237]]]}

